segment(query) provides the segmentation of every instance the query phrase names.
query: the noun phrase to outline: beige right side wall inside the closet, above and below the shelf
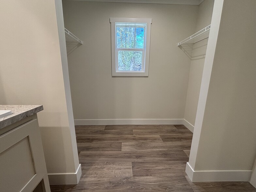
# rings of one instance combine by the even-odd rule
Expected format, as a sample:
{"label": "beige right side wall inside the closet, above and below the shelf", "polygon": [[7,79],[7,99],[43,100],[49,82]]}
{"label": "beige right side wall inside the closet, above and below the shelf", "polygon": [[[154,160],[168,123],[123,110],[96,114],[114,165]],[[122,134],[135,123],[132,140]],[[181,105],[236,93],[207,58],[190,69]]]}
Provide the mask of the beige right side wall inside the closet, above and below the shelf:
{"label": "beige right side wall inside the closet, above and below the shelf", "polygon": [[[214,0],[204,0],[199,5],[195,32],[211,24],[213,5]],[[207,42],[208,39],[195,43],[192,51],[184,119],[193,126],[196,120]]]}

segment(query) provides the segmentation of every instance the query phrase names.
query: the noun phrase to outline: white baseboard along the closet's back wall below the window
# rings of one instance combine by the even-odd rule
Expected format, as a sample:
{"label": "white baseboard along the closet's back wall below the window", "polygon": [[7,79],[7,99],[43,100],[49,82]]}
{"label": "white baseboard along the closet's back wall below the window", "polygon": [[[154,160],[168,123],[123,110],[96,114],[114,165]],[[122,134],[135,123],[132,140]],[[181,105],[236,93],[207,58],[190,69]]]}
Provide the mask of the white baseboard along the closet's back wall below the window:
{"label": "white baseboard along the closet's back wall below the window", "polygon": [[178,125],[183,119],[79,119],[75,125]]}

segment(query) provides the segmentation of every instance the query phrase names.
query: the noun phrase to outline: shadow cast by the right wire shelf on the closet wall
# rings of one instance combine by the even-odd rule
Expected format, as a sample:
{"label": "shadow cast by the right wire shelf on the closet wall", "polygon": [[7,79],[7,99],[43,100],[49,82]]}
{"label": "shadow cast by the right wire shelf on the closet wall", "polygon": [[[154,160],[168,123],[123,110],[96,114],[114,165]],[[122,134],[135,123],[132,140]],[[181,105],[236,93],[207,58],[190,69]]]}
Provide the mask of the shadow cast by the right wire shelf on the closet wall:
{"label": "shadow cast by the right wire shelf on the closet wall", "polygon": [[190,58],[191,60],[197,60],[205,58],[207,49],[208,38],[200,40],[195,44],[184,44],[180,45],[180,49]]}

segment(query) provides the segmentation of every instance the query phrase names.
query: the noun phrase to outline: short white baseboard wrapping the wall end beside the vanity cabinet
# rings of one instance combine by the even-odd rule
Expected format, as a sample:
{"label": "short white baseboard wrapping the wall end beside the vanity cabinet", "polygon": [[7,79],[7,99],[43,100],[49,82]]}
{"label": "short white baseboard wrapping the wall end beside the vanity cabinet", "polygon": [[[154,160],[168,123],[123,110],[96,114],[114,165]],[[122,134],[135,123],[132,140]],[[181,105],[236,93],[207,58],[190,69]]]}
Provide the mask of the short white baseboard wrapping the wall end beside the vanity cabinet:
{"label": "short white baseboard wrapping the wall end beside the vanity cabinet", "polygon": [[72,185],[78,184],[82,175],[81,164],[75,173],[48,173],[50,185]]}

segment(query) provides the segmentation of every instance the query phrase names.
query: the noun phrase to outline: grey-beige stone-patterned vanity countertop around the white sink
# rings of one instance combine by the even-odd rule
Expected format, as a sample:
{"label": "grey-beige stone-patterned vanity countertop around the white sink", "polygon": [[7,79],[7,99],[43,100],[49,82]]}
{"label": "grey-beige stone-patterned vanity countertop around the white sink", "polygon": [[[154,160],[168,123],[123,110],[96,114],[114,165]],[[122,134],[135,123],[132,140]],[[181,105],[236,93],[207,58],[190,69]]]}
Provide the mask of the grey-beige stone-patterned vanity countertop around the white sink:
{"label": "grey-beige stone-patterned vanity countertop around the white sink", "polygon": [[0,129],[25,119],[43,110],[43,105],[0,105],[0,110],[11,110],[12,114],[0,118]]}

